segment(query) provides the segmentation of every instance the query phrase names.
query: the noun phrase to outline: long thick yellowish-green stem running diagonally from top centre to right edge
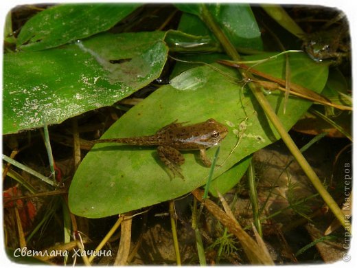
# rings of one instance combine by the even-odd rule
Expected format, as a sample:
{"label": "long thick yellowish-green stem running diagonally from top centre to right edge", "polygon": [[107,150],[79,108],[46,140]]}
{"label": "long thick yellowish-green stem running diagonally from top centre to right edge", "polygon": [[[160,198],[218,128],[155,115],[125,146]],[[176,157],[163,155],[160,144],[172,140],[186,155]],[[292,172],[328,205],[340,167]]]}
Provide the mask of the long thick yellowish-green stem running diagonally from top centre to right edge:
{"label": "long thick yellowish-green stem running diagonally from top centre to right edge", "polygon": [[[203,5],[201,8],[201,19],[204,21],[204,23],[206,23],[209,29],[211,29],[211,31],[214,33],[216,38],[218,38],[218,41],[220,41],[225,52],[233,60],[240,60],[240,55],[235,50],[231,42],[228,40],[227,36],[225,36],[224,32],[220,30],[220,27],[218,27],[218,25],[214,21],[206,5]],[[264,110],[264,113],[266,114],[270,122],[275,126],[275,129],[279,133],[281,139],[283,139],[283,141],[285,142],[286,146],[288,147],[292,155],[295,157],[295,159],[297,159],[297,162],[299,163],[303,171],[310,179],[312,185],[316,188],[316,190],[319,192],[325,203],[328,205],[332,213],[334,213],[334,215],[336,216],[338,221],[343,225],[343,227],[349,225],[348,221],[345,222],[345,216],[341,211],[341,209],[338,207],[337,203],[331,197],[329,192],[327,192],[327,190],[323,187],[323,184],[321,183],[319,177],[317,177],[314,170],[308,164],[308,161],[306,161],[305,157],[303,157],[303,155],[300,153],[299,148],[297,148],[296,144],[292,141],[288,132],[284,129],[283,124],[277,117],[273,108],[270,106],[268,100],[266,100],[266,98],[264,97],[264,93],[262,92],[260,87],[256,87],[254,83],[249,83],[249,88],[251,89],[253,95],[257,99],[257,102],[259,102],[260,106]]]}

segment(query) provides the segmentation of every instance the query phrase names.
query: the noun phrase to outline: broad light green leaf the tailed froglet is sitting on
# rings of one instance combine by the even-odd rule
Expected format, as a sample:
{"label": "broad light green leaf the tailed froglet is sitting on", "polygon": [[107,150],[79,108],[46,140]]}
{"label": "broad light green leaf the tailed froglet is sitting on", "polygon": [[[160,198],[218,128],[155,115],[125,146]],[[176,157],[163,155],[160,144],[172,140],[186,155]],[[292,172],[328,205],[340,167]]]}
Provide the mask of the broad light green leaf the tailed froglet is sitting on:
{"label": "broad light green leaf the tailed froglet is sitting on", "polygon": [[[257,56],[249,59],[252,58]],[[327,67],[302,54],[292,55],[290,64],[292,82],[318,92],[323,89]],[[281,77],[284,67],[284,57],[280,57],[258,68]],[[236,74],[236,70],[220,68],[229,76]],[[283,114],[281,93],[271,93],[267,98],[286,129],[290,129],[310,107],[306,100],[291,98]],[[176,119],[196,123],[208,118],[215,118],[229,128],[229,134],[220,145],[218,164],[224,164],[216,168],[215,177],[278,138],[250,91],[207,66],[189,69],[176,76],[171,85],[161,87],[130,109],[104,133],[103,138],[150,135]],[[248,119],[242,124],[245,118]],[[242,135],[242,140],[227,159],[238,141],[237,134]],[[214,148],[207,151],[209,157],[214,151]],[[209,168],[198,164],[197,153],[185,152],[184,155],[185,181],[177,177],[170,180],[155,148],[97,144],[73,177],[69,188],[71,212],[90,218],[104,217],[174,199],[202,186]]]}

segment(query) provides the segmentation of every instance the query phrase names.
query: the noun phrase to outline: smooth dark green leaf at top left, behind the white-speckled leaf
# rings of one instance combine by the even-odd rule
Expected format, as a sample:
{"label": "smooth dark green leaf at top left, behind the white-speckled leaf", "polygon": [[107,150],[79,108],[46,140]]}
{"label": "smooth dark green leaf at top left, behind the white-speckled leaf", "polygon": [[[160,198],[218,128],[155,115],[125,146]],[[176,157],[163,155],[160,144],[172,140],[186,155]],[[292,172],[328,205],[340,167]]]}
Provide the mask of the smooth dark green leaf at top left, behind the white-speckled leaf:
{"label": "smooth dark green leaf at top left, behind the white-speckled leaf", "polygon": [[41,50],[104,32],[133,12],[139,4],[63,4],[33,16],[17,38],[19,49]]}

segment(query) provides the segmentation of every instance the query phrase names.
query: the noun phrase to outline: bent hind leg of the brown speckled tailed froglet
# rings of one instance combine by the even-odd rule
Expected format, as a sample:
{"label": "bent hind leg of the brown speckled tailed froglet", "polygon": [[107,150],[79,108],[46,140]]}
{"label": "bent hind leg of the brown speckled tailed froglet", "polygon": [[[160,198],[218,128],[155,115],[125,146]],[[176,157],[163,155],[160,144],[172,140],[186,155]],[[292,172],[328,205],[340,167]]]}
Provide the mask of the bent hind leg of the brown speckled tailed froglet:
{"label": "bent hind leg of the brown speckled tailed froglet", "polygon": [[157,147],[157,154],[159,155],[161,161],[163,161],[163,164],[170,168],[174,177],[178,175],[181,179],[184,179],[179,166],[185,163],[185,157],[181,155],[179,150],[170,146],[159,146]]}

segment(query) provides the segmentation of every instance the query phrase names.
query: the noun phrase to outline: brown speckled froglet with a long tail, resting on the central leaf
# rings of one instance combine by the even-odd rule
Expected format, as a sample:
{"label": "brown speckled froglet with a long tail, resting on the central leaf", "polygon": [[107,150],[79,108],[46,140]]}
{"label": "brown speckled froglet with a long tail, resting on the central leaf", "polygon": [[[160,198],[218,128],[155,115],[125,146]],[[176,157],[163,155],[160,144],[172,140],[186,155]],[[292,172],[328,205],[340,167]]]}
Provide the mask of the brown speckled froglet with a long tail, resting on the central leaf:
{"label": "brown speckled froglet with a long tail, resting on the central leaf", "polygon": [[185,163],[181,150],[199,150],[200,159],[204,166],[210,167],[211,160],[207,157],[206,150],[219,144],[228,134],[224,124],[209,118],[205,122],[185,125],[177,120],[163,126],[154,135],[138,137],[119,137],[110,139],[95,139],[91,144],[121,143],[137,146],[157,146],[159,159],[172,173],[170,177],[184,179],[180,166]]}

